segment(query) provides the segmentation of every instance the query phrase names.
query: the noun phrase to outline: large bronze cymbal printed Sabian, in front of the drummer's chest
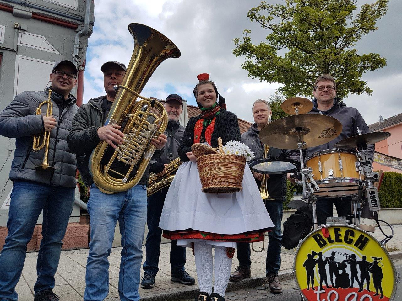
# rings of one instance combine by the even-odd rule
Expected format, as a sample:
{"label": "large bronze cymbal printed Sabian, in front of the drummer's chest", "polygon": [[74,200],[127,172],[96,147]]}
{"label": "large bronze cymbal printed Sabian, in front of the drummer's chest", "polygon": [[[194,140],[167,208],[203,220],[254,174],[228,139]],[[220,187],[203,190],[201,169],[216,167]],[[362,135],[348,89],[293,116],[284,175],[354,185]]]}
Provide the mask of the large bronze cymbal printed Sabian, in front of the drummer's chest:
{"label": "large bronze cymbal printed Sabian, in front of the drummer's chest", "polygon": [[322,114],[286,116],[270,122],[260,130],[260,140],[272,147],[296,149],[297,141],[306,142],[303,148],[318,146],[335,139],[342,132],[336,118]]}

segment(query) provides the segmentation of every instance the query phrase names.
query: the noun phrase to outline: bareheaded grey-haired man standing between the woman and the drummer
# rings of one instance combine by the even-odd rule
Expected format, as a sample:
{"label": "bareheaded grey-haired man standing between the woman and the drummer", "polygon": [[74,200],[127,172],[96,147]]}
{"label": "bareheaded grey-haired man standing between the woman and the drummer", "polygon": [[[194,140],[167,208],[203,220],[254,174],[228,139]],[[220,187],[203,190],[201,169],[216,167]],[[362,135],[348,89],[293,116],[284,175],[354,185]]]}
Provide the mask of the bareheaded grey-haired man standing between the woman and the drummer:
{"label": "bareheaded grey-haired man standing between the woman and the drummer", "polygon": [[[254,160],[264,158],[264,144],[260,141],[258,134],[266,124],[271,122],[271,106],[265,100],[256,100],[252,105],[254,124],[241,136],[241,142],[250,147],[254,152]],[[289,157],[289,151],[270,147],[268,157]],[[257,182],[258,188],[261,187],[263,175],[252,171]],[[281,267],[281,248],[282,248],[282,212],[283,201],[286,200],[286,174],[266,175],[266,185],[270,199],[265,199],[265,207],[271,217],[275,228],[268,233],[268,250],[266,261],[266,275],[269,281],[271,293],[281,293],[282,285],[278,280],[278,272]],[[251,277],[250,244],[244,242],[237,243],[237,259],[239,265],[236,271],[230,275],[230,281],[241,281]]]}

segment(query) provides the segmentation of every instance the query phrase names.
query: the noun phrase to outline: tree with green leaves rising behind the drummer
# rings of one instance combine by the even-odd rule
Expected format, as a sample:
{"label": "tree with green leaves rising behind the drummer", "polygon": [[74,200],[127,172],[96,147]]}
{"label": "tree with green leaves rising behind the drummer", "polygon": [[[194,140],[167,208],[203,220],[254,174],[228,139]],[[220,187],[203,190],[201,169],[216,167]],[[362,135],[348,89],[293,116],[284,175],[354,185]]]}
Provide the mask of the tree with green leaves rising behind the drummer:
{"label": "tree with green leaves rising behind the drummer", "polygon": [[371,95],[373,90],[361,76],[386,66],[386,59],[378,53],[361,54],[355,46],[363,35],[377,30],[375,23],[386,14],[388,0],[364,4],[359,11],[356,2],[261,2],[248,11],[248,18],[269,31],[267,41],[254,45],[251,31],[244,30],[243,41],[233,40],[233,53],[246,56],[242,68],[249,77],[283,84],[277,92],[287,97],[312,96],[316,77],[327,73],[335,77],[337,96]]}

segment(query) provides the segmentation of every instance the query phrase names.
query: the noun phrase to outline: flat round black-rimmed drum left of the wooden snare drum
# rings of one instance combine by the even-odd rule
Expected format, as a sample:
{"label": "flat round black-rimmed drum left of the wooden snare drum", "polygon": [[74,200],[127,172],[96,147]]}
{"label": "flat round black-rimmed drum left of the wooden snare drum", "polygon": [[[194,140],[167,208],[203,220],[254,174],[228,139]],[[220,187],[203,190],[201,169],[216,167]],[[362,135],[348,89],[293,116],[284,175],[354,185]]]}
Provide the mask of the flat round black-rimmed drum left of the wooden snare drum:
{"label": "flat round black-rimmed drum left of the wooden snare drum", "polygon": [[298,162],[286,159],[260,159],[252,162],[249,167],[256,173],[264,173],[269,175],[279,175],[283,173],[291,173],[297,171]]}

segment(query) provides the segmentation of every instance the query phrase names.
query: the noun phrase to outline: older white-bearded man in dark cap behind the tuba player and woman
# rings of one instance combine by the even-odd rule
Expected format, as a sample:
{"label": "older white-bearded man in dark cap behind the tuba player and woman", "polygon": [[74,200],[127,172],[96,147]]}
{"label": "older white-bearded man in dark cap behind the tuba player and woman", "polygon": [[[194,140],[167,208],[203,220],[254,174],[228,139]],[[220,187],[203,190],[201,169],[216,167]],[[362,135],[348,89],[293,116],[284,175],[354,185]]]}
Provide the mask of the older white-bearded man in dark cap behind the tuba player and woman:
{"label": "older white-bearded man in dark cap behind the tuba player and woman", "polygon": [[[151,172],[158,173],[161,176],[166,172],[165,166],[172,160],[178,158],[177,149],[184,133],[184,127],[178,122],[183,112],[183,100],[181,96],[170,94],[166,98],[164,108],[169,117],[168,127],[165,132],[168,141],[164,148],[163,155],[157,160],[152,161],[150,168]],[[158,273],[159,270],[158,264],[162,235],[162,229],[159,228],[159,220],[168,190],[169,186],[148,197],[147,224],[149,232],[145,245],[146,261],[142,266],[145,271],[141,281],[141,287],[143,289],[151,289],[154,287],[156,273]],[[186,263],[186,248],[177,246],[176,242],[177,240],[172,240],[170,244],[171,280],[188,285],[194,284],[195,279],[190,277],[184,268]]]}

